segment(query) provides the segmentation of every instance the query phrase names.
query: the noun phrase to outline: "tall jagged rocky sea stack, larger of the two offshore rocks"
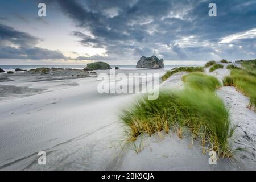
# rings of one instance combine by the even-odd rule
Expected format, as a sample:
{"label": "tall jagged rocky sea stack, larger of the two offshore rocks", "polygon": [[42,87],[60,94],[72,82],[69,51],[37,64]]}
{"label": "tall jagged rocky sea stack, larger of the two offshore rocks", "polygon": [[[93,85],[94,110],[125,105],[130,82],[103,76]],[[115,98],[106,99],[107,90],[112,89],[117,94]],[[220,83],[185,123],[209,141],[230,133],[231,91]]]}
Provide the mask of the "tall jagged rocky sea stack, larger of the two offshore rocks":
{"label": "tall jagged rocky sea stack, larger of the two offshore rocks", "polygon": [[150,68],[159,69],[164,68],[163,59],[158,59],[156,56],[145,57],[142,56],[137,62],[136,68]]}

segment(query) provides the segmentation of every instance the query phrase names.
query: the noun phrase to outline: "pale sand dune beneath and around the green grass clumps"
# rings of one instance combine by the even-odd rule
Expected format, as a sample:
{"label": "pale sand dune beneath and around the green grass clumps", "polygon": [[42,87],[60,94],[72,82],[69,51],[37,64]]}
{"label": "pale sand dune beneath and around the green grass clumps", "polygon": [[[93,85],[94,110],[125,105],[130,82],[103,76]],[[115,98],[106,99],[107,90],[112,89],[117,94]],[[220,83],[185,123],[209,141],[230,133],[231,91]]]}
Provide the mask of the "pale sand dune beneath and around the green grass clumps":
{"label": "pale sand dune beneath and around the green grass clumps", "polygon": [[[209,73],[222,81],[230,74],[226,68],[217,69]],[[186,73],[175,73],[162,83],[163,88],[182,89],[181,78]],[[218,96],[224,100],[230,109],[232,125],[237,126],[234,134],[233,148],[243,148],[237,151],[233,159],[218,159],[217,165],[209,165],[209,155],[202,154],[198,141],[191,146],[191,137],[185,136],[181,140],[170,130],[170,134],[162,133],[148,137],[140,136],[136,143],[141,150],[138,154],[134,146],[123,155],[122,163],[116,169],[123,170],[255,170],[256,169],[256,113],[246,106],[249,98],[237,92],[234,88],[224,87],[218,90]],[[232,141],[231,141],[232,142]]]}

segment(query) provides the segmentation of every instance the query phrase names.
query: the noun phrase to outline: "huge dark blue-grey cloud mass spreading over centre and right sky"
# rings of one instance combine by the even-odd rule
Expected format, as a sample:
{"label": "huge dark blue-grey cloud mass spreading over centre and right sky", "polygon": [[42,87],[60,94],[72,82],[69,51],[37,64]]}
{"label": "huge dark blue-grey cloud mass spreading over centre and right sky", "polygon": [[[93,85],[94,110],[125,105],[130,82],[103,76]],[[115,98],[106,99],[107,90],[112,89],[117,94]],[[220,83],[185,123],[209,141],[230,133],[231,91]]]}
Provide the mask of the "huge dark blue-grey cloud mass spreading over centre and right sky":
{"label": "huge dark blue-grey cloud mass spreading over centre and right sky", "polygon": [[[82,31],[73,35],[79,36],[85,46],[105,47],[109,59],[138,59],[153,53],[178,60],[254,57],[248,52],[255,52],[255,46],[246,47],[246,40],[240,40],[236,53],[232,53],[238,51],[235,47],[228,46],[232,42],[220,42],[225,36],[256,28],[256,2],[214,1],[216,18],[208,16],[211,2],[57,1],[64,14],[75,20],[79,28],[90,30],[94,38]],[[186,37],[193,39],[184,45]]]}

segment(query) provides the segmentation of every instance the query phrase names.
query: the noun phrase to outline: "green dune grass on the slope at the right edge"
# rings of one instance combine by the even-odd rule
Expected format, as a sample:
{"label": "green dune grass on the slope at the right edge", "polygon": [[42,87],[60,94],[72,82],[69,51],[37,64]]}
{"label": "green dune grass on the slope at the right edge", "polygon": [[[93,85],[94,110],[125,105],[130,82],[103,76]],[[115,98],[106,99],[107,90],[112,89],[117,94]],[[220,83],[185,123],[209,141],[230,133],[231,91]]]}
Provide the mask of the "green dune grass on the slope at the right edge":
{"label": "green dune grass on the slope at the right edge", "polygon": [[250,98],[249,109],[256,111],[256,60],[244,61],[245,69],[232,69],[230,76],[223,80],[224,86],[235,86],[238,91]]}

